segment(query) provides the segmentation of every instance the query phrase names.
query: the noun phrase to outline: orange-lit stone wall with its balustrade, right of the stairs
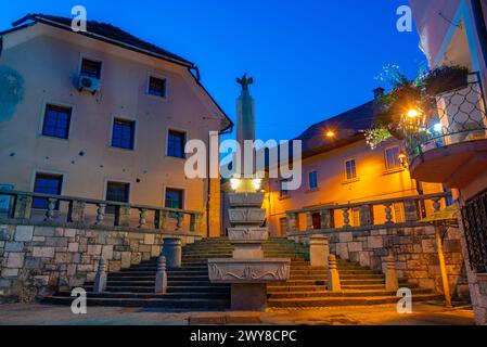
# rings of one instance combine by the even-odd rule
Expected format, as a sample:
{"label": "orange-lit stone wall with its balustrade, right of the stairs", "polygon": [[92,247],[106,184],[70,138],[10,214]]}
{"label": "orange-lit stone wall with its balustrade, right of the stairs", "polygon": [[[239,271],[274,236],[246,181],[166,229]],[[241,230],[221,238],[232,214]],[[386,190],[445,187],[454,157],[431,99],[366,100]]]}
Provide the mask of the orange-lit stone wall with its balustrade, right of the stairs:
{"label": "orange-lit stone wall with its balustrade, right of the stairs", "polygon": [[[394,278],[397,277],[443,293],[435,228],[420,222],[420,210],[430,215],[445,206],[448,197],[448,194],[432,194],[292,210],[287,211],[287,224],[291,227],[287,237],[309,245],[311,265],[323,266],[328,254],[335,255],[382,271],[389,279],[389,288],[395,287]],[[394,214],[394,205],[398,203],[403,210],[400,219]],[[359,214],[355,222],[351,216],[354,209]],[[377,210],[382,210],[383,215],[377,216]],[[312,218],[317,213],[323,228],[312,224],[312,220],[318,220]],[[337,218],[337,215],[343,218]],[[303,222],[306,223],[305,230],[299,228]],[[469,297],[459,229],[446,230],[443,248],[447,277],[454,296]]]}

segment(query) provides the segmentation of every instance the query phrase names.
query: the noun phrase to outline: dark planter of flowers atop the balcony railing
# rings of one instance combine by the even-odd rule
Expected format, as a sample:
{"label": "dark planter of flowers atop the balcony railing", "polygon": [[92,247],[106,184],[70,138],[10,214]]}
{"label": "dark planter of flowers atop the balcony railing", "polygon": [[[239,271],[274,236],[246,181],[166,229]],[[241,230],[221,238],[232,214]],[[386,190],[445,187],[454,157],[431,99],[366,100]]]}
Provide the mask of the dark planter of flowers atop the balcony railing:
{"label": "dark planter of flowers atop the balcony railing", "polygon": [[428,95],[437,95],[457,90],[469,83],[469,68],[463,66],[441,66],[426,74],[423,82]]}

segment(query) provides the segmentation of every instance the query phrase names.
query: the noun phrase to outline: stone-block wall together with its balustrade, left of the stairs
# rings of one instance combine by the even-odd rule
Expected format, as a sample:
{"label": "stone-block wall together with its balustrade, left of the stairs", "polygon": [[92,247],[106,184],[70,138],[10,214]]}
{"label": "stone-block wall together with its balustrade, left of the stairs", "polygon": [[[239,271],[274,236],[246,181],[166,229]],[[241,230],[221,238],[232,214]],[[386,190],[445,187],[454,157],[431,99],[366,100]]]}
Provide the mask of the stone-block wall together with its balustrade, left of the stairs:
{"label": "stone-block wall together with its balustrade, left of the stairs", "polygon": [[[177,268],[181,246],[203,237],[197,211],[17,191],[0,195],[11,197],[0,215],[0,303],[31,301],[87,281],[103,292],[106,272],[161,255]],[[35,198],[48,201],[48,208],[33,209]]]}

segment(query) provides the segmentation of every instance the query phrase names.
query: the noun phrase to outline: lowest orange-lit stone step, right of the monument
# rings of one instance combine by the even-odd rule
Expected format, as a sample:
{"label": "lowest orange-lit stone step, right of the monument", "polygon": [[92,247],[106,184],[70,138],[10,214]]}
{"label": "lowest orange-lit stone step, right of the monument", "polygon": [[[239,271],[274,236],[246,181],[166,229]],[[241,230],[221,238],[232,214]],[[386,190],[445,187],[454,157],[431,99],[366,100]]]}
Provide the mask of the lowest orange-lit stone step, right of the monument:
{"label": "lowest orange-lit stone step, right of the monument", "polygon": [[[437,299],[436,294],[419,294],[412,297],[415,303]],[[322,298],[283,298],[268,299],[268,307],[331,307],[331,306],[369,306],[382,304],[395,304],[398,301],[396,296],[356,296],[356,297],[322,297]]]}

